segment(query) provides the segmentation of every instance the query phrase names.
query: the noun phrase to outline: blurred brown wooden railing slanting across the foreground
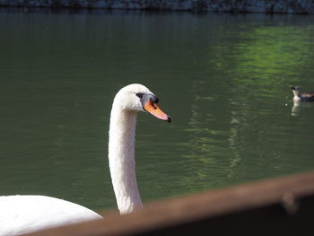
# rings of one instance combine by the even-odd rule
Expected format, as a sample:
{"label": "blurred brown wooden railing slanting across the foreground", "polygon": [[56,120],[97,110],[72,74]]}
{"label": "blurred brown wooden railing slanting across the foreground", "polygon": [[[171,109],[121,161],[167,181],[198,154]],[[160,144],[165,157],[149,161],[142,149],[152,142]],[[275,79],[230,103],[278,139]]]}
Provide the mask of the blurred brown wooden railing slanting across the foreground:
{"label": "blurred brown wooden railing slanting across the foreground", "polygon": [[162,200],[133,214],[100,214],[104,220],[28,235],[314,235],[314,172]]}

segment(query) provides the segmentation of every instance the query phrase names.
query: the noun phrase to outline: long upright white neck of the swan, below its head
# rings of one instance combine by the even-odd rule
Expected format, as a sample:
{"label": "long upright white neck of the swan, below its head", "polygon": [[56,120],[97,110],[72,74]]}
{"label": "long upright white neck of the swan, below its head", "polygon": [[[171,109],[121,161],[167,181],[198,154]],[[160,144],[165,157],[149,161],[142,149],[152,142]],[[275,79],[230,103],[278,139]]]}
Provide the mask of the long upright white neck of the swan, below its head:
{"label": "long upright white neck of the swan, below its head", "polygon": [[135,174],[135,127],[136,111],[113,106],[109,127],[109,169],[121,214],[143,207]]}

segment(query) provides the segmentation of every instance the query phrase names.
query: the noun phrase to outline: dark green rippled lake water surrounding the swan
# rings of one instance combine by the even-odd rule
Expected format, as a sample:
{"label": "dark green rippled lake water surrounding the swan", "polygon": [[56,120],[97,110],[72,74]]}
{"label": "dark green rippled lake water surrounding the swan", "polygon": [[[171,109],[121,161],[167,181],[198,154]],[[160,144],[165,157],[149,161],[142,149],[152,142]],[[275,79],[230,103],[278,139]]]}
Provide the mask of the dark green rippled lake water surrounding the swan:
{"label": "dark green rippled lake water surrounding the swan", "polygon": [[119,88],[138,116],[144,202],[314,169],[314,16],[0,10],[0,195],[116,208],[107,158]]}

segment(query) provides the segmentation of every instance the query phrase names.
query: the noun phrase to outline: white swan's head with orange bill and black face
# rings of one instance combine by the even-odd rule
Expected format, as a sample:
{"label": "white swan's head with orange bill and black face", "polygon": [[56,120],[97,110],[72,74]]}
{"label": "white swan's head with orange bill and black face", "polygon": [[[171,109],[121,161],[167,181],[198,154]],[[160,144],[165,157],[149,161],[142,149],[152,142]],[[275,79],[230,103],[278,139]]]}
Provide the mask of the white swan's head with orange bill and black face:
{"label": "white swan's head with orange bill and black face", "polygon": [[117,104],[119,109],[128,111],[147,111],[156,118],[170,122],[170,116],[158,107],[158,101],[158,97],[144,85],[133,83],[117,93],[114,104]]}

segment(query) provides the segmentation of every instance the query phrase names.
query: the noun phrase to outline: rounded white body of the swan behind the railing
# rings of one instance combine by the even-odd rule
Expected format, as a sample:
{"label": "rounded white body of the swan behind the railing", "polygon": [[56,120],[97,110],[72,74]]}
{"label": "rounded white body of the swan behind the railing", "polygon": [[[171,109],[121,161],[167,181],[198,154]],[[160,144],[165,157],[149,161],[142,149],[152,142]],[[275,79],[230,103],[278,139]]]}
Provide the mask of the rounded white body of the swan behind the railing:
{"label": "rounded white body of the swan behind the railing", "polygon": [[101,219],[92,210],[46,196],[0,197],[0,235],[18,235],[68,223]]}

